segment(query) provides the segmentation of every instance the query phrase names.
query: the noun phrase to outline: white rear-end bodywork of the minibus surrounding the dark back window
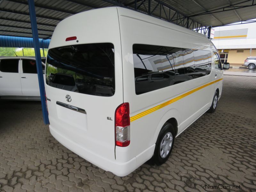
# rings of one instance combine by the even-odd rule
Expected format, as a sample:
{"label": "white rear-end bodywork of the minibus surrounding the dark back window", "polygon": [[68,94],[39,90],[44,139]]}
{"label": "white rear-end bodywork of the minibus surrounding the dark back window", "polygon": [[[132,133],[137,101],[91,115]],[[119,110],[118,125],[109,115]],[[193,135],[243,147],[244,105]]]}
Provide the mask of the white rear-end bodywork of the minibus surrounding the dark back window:
{"label": "white rear-end bodywork of the minibus surrounding the dark back window", "polygon": [[[77,40],[65,41],[71,36],[76,36]],[[114,44],[116,91],[113,96],[82,94],[47,84],[45,91],[51,100],[47,101],[47,106],[52,135],[83,158],[105,170],[113,171],[111,162],[116,162],[114,120],[107,120],[107,117],[114,119],[117,106],[123,103],[121,42],[116,8],[86,11],[61,21],[54,30],[49,49],[102,42]],[[70,102],[67,102],[66,95],[71,96]],[[82,108],[87,114],[57,105],[57,101]]]}

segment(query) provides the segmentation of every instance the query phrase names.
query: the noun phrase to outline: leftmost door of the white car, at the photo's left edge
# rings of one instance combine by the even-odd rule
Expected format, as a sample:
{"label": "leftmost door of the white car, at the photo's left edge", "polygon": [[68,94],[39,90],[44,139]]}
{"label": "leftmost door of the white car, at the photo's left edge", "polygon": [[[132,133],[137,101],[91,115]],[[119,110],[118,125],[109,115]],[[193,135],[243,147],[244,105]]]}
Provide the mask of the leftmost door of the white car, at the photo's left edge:
{"label": "leftmost door of the white car, at the photo's left edge", "polygon": [[0,61],[0,95],[22,95],[19,62],[20,59]]}

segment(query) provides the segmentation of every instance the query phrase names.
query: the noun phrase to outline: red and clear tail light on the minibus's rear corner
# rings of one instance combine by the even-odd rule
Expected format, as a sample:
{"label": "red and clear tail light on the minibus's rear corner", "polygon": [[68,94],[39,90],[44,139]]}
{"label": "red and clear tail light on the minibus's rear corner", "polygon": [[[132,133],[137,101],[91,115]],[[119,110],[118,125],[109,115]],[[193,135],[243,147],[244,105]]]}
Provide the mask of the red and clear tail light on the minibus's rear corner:
{"label": "red and clear tail light on the minibus's rear corner", "polygon": [[130,144],[130,108],[129,103],[122,103],[115,112],[116,146],[127,147]]}

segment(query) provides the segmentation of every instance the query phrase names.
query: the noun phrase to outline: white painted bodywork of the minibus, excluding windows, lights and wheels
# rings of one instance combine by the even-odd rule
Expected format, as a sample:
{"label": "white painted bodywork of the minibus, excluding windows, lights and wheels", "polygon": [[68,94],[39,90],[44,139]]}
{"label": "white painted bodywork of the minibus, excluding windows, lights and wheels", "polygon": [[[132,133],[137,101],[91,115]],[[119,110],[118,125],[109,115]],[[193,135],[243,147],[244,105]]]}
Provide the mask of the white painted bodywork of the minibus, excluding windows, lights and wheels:
{"label": "white painted bodywork of the minibus, excluding windows, lights and wheels", "polygon": [[[76,36],[78,42],[65,41],[71,36]],[[211,107],[216,89],[221,93],[223,73],[215,78],[212,54],[208,58],[212,61],[209,75],[136,95],[133,44],[215,50],[205,36],[186,28],[120,7],[95,9],[61,21],[54,30],[49,49],[89,43],[114,44],[115,94],[101,97],[45,84],[46,96],[51,100],[47,101],[49,127],[64,146],[118,176],[129,174],[153,156],[157,136],[166,121],[175,119],[176,136],[179,135]],[[69,103],[66,95],[72,98]],[[78,115],[76,111],[63,109],[56,105],[57,101],[83,108],[87,114]],[[172,101],[171,104],[138,117],[168,101]],[[115,146],[115,109],[123,102],[130,105],[128,147]]]}

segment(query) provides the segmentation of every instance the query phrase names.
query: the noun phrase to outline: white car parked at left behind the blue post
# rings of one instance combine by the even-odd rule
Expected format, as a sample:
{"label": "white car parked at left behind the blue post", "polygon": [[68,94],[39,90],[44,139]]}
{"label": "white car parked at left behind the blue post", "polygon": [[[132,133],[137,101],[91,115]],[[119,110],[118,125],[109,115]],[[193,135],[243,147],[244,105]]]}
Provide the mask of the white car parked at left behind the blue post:
{"label": "white car parked at left behind the blue post", "polygon": [[0,57],[0,99],[40,100],[35,57]]}

